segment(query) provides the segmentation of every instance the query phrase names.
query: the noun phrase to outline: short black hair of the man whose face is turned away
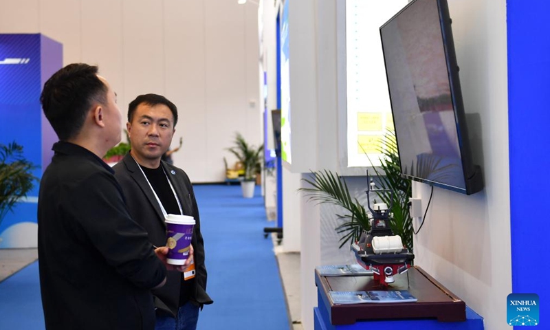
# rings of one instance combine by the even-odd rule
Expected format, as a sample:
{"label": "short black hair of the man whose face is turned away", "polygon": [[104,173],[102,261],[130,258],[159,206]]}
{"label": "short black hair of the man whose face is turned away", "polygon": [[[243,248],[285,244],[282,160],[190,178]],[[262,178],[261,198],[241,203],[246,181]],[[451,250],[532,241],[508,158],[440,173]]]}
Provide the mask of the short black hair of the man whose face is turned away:
{"label": "short black hair of the man whose face is turned away", "polygon": [[80,133],[94,102],[106,101],[107,86],[98,78],[98,67],[84,63],[69,64],[56,72],[40,96],[44,115],[61,141]]}

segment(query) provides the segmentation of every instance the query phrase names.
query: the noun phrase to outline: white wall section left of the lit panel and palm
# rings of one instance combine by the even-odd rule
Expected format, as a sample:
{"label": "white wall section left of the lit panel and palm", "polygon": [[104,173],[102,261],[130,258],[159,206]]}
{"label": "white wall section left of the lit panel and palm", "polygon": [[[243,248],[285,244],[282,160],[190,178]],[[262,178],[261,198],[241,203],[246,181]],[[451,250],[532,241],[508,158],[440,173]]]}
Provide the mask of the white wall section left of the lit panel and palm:
{"label": "white wall section left of the lit panel and palm", "polygon": [[327,242],[322,208],[296,189],[306,186],[309,170],[335,170],[338,163],[336,0],[289,2],[289,54],[292,164],[283,168],[283,248],[300,248],[301,320],[308,330],[317,305],[314,268],[323,263]]}

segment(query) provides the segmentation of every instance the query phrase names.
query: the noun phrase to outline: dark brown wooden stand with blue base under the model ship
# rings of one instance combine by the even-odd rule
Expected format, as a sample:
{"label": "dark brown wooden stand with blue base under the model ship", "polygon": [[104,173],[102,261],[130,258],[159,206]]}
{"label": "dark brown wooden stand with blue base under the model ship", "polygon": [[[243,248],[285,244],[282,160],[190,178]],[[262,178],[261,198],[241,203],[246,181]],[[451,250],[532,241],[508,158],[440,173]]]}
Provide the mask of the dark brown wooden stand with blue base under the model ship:
{"label": "dark brown wooden stand with blue base under the model ship", "polygon": [[[406,273],[395,276],[395,283],[391,285],[391,289],[408,290],[418,299],[415,303],[334,305],[328,294],[329,291],[369,291],[383,290],[384,288],[376,283],[371,276],[329,277],[320,276],[316,270],[318,309],[315,311],[315,317],[316,325],[319,325],[319,328],[316,327],[316,329],[339,329],[339,327],[334,326],[354,325],[356,322],[359,324],[374,320],[377,320],[377,322],[380,322],[378,320],[391,320],[393,322],[428,320],[434,322],[434,324],[441,324],[441,327],[429,329],[445,329],[445,325],[450,325],[452,329],[483,330],[483,318],[471,309],[467,309],[465,303],[459,297],[435,281],[420,267],[410,267],[408,278],[410,286],[407,283]],[[320,326],[323,318],[327,318],[327,325]],[[465,327],[456,327],[455,322],[461,322]],[[400,324],[400,329],[406,329],[402,328],[403,326],[403,324]],[[345,329],[366,329],[366,327],[345,327]],[[398,328],[396,327],[396,329]],[[428,328],[423,325],[422,327],[412,327],[410,329]]]}

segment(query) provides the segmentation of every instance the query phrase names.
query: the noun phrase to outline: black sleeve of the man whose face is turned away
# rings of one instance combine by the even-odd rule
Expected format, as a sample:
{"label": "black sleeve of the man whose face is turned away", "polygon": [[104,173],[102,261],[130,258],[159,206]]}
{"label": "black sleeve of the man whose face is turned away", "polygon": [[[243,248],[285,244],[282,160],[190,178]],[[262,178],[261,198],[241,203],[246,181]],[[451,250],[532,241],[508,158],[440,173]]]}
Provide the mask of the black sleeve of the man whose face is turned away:
{"label": "black sleeve of the man whose face is turned away", "polygon": [[91,175],[68,198],[81,232],[121,276],[145,289],[164,281],[166,267],[157,258],[145,230],[131,219],[112,175]]}

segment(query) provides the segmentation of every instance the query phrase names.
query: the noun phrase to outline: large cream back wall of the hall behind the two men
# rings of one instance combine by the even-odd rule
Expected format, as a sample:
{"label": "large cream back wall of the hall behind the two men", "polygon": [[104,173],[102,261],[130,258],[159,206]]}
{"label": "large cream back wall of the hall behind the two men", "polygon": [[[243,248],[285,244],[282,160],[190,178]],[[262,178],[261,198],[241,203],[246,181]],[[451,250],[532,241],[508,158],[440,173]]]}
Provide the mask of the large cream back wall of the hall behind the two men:
{"label": "large cream back wall of the hall behind the two men", "polygon": [[[261,137],[257,5],[228,0],[0,0],[0,33],[63,43],[63,63],[97,64],[127,104],[163,94],[179,108],[175,164],[193,182],[225,179],[225,148],[239,131]],[[251,102],[252,101],[252,102]]]}

